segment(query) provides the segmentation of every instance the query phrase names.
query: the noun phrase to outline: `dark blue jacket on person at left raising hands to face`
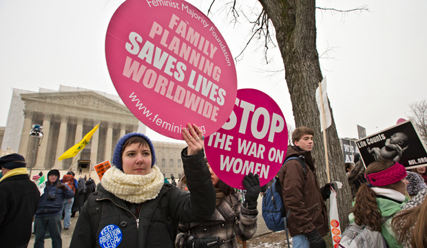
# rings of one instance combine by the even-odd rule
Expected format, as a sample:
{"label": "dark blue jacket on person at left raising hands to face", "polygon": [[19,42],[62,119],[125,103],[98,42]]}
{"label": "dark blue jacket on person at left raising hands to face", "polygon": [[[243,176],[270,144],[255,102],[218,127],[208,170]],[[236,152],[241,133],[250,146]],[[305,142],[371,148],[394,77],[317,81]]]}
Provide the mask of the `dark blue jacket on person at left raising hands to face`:
{"label": "dark blue jacket on person at left raising hands to face", "polygon": [[[36,211],[36,217],[61,215],[61,209],[64,198],[73,198],[74,192],[72,191],[72,189],[70,189],[68,185],[65,185],[65,187],[67,187],[67,190],[65,190],[64,192],[62,191],[62,189],[56,188],[55,185],[58,183],[61,182],[59,180],[56,180],[53,185],[49,183],[49,180],[46,182],[45,191],[40,196],[39,207]],[[50,198],[53,199],[48,200],[48,196],[51,196]]]}

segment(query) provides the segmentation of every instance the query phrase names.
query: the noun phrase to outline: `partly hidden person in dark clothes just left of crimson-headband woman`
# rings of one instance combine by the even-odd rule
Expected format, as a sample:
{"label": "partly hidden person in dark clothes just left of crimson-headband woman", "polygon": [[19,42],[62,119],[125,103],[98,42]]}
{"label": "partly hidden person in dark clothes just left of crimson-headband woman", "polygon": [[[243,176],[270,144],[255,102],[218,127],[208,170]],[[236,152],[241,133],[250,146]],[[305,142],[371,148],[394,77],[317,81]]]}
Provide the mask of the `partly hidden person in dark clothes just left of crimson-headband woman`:
{"label": "partly hidden person in dark clothes just left of crimson-headband woman", "polygon": [[367,182],[365,178],[365,165],[362,160],[360,160],[360,155],[356,154],[354,160],[355,165],[346,163],[346,178],[348,180],[348,185],[350,186],[351,196],[353,199],[355,198],[360,186]]}

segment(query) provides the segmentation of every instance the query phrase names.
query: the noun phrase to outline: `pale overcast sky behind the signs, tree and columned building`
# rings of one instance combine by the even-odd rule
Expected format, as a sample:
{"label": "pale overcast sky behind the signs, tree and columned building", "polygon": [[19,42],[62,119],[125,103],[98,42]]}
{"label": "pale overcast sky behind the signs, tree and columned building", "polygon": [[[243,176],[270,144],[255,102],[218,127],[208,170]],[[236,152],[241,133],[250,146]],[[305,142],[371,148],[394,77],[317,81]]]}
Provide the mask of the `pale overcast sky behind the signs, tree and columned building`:
{"label": "pale overcast sky behind the signs, tree and columned building", "polygon": [[[7,121],[12,88],[59,90],[59,85],[117,94],[105,63],[105,32],[121,0],[0,1],[0,126]],[[211,1],[192,0],[207,13]],[[225,37],[233,56],[249,38],[250,25],[229,24],[224,1],[216,1],[209,18]],[[357,138],[356,125],[367,134],[395,125],[410,114],[409,103],[427,93],[427,1],[317,1],[318,7],[369,12],[348,14],[317,10],[317,51],[327,76],[328,94],[338,135]],[[253,18],[258,1],[238,6]],[[238,88],[253,87],[280,105],[295,126],[284,65],[278,48],[263,57],[262,42],[252,43],[236,63]],[[329,59],[328,59],[329,58]],[[273,71],[279,71],[273,73]],[[157,141],[174,141],[151,130]]]}

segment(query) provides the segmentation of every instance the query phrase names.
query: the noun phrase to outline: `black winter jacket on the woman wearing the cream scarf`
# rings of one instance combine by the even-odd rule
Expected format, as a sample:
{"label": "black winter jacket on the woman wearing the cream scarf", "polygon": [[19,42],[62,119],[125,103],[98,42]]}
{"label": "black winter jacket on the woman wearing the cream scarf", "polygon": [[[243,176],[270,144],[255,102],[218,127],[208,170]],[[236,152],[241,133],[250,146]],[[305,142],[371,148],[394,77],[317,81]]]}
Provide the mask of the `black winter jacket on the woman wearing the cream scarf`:
{"label": "black winter jacket on the woman wearing the cream scarf", "polygon": [[119,248],[173,248],[178,222],[200,222],[209,218],[216,205],[216,194],[203,150],[194,156],[185,154],[187,148],[181,157],[191,194],[165,184],[156,198],[143,203],[136,217],[124,200],[107,192],[101,185],[83,206],[70,248],[101,247],[100,234],[108,225],[116,225],[120,229],[118,236],[121,235],[122,239]]}

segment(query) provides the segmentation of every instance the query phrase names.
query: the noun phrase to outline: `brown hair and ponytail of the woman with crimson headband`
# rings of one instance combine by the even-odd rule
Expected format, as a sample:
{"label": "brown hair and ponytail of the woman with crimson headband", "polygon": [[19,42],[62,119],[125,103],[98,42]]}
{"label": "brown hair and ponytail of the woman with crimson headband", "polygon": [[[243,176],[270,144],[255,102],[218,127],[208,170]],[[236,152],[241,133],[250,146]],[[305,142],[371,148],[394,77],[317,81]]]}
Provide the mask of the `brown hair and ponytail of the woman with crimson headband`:
{"label": "brown hair and ponytail of the woman with crimson headband", "polygon": [[[389,160],[379,160],[371,163],[366,168],[366,175],[382,172],[395,165],[395,162]],[[401,187],[402,180],[397,183],[392,183],[386,186],[375,186],[384,189],[399,189]],[[357,225],[365,225],[373,231],[381,231],[382,216],[381,209],[377,204],[377,194],[371,189],[370,186],[364,184],[357,191],[355,198],[355,205],[351,209],[351,212],[355,216],[355,223]]]}

